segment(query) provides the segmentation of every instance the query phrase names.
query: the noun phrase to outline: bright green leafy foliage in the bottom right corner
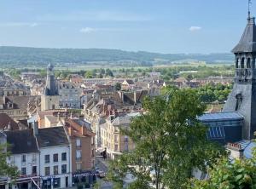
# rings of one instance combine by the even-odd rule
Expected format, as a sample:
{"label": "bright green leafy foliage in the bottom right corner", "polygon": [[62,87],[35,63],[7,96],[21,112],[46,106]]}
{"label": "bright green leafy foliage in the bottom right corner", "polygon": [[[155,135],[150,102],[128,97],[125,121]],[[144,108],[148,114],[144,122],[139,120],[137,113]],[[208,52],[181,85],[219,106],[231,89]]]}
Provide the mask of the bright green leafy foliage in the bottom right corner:
{"label": "bright green leafy foliage in the bottom right corner", "polygon": [[230,162],[222,158],[209,170],[209,180],[193,180],[195,189],[249,189],[256,188],[256,152],[252,159],[236,159]]}

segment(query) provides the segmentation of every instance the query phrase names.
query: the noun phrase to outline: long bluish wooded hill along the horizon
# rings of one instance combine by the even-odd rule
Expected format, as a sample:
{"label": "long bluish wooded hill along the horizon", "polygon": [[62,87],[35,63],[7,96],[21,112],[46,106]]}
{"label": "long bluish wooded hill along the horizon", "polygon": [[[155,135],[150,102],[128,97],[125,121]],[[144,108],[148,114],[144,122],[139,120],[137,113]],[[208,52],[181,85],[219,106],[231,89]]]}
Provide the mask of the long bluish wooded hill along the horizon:
{"label": "long bluish wooded hill along the horizon", "polygon": [[170,64],[183,60],[206,61],[207,63],[231,62],[233,54],[159,54],[131,52],[118,49],[44,49],[26,47],[0,47],[1,66],[44,66],[49,62],[57,65],[90,64],[90,62],[115,62],[124,66],[125,62],[136,61],[138,66],[158,62]]}

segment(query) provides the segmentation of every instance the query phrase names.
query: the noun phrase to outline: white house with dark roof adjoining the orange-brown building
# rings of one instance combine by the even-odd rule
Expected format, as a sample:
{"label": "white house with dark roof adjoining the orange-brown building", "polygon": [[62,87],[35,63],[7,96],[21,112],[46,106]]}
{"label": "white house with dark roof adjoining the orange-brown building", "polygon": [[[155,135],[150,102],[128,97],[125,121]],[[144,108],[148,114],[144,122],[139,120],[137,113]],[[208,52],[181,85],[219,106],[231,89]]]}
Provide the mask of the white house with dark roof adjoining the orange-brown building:
{"label": "white house with dark roof adjoining the orange-brown building", "polygon": [[40,150],[42,188],[72,186],[71,146],[63,126],[34,128]]}

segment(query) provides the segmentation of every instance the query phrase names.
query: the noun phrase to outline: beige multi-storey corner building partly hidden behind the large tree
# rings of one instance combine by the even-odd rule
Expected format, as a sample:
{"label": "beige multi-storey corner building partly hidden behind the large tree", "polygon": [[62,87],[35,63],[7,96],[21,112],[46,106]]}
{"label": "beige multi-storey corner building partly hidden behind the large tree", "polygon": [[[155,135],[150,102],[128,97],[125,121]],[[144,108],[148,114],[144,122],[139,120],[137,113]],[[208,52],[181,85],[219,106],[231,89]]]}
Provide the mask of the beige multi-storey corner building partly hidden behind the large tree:
{"label": "beige multi-storey corner building partly hidden behind the large tree", "polygon": [[109,117],[106,123],[102,123],[101,140],[102,149],[107,149],[108,158],[114,159],[123,152],[134,149],[134,143],[128,136],[121,134],[121,129],[129,129],[131,118],[139,116],[139,113],[130,113],[120,117]]}

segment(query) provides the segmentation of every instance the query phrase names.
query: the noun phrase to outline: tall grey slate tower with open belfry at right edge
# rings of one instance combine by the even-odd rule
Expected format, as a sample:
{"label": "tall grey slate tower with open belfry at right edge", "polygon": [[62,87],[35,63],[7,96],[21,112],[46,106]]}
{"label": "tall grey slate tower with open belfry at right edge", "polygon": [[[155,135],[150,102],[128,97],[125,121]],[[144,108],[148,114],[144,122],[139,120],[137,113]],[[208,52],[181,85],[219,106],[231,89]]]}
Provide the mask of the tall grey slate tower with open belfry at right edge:
{"label": "tall grey slate tower with open belfry at right edge", "polygon": [[235,83],[223,112],[239,112],[244,117],[242,139],[253,139],[256,131],[256,26],[248,12],[247,26],[232,50],[236,55]]}

